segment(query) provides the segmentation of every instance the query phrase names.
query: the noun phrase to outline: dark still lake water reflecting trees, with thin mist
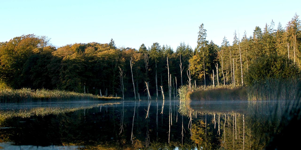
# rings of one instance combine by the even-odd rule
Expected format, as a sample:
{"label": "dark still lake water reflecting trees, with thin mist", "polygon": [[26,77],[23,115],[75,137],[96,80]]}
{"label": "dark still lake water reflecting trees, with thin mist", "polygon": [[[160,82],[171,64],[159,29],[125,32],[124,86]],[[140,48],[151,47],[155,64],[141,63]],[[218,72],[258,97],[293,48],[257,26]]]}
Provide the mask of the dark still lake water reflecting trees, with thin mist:
{"label": "dark still lake water reflecting trees, with thin mist", "polygon": [[299,112],[287,101],[172,100],[162,107],[162,100],[0,104],[0,142],[82,149],[282,149],[299,140],[293,138],[300,132]]}

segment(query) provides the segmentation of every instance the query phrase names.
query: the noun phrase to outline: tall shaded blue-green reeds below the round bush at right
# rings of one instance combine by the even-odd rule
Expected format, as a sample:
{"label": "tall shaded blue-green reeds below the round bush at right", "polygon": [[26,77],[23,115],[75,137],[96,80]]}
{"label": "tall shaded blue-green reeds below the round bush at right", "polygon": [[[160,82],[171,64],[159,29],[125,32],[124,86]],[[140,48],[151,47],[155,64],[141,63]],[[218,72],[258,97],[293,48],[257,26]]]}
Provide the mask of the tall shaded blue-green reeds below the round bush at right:
{"label": "tall shaded blue-green reeds below the round bush at right", "polygon": [[247,87],[249,101],[300,100],[301,79],[266,79]]}

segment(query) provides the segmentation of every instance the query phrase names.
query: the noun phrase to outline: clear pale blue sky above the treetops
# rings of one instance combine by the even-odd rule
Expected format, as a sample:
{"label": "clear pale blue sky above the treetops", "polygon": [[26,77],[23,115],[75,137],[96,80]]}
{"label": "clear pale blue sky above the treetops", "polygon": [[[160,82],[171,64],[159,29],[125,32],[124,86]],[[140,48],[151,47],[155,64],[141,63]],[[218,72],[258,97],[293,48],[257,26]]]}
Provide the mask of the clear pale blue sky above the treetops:
{"label": "clear pale blue sky above the treetops", "polygon": [[[221,45],[224,36],[233,41],[255,26],[278,22],[285,27],[301,1],[163,1],[163,0],[1,0],[0,41],[35,34],[51,38],[54,46],[74,43],[109,43],[138,49],[158,42],[174,50],[185,42],[194,49],[199,26],[204,23],[207,40]],[[300,18],[300,17],[299,17]],[[301,19],[301,18],[300,18]]]}

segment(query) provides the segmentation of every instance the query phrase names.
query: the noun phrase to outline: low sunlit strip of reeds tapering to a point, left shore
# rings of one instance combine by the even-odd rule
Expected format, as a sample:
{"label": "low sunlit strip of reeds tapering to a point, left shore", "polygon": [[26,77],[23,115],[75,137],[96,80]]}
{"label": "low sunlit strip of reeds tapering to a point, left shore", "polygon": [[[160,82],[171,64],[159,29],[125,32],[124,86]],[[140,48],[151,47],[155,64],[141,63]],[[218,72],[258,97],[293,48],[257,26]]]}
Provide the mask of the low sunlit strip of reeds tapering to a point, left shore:
{"label": "low sunlit strip of reeds tapering to a point, left shore", "polygon": [[48,90],[48,89],[1,89],[0,102],[1,103],[14,103],[14,102],[28,102],[32,100],[119,100],[120,97],[101,97],[89,93],[76,93],[64,90]]}

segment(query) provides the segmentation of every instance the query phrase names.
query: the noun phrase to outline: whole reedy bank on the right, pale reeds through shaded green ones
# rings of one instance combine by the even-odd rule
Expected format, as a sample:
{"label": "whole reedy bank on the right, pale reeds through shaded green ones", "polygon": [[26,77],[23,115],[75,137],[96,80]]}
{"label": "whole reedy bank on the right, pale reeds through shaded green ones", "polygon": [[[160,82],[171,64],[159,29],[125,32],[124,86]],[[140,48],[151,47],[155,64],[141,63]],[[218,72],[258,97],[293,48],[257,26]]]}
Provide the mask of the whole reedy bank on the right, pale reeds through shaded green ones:
{"label": "whole reedy bank on the right, pale reeds through shaded green ones", "polygon": [[191,86],[184,85],[178,90],[181,101],[265,101],[299,100],[301,79],[265,79],[254,81],[252,85]]}

